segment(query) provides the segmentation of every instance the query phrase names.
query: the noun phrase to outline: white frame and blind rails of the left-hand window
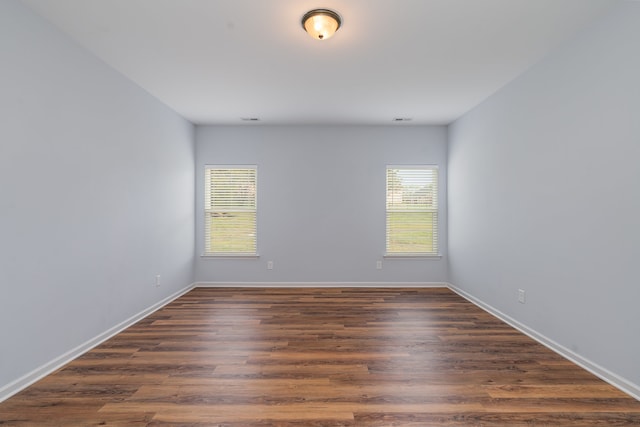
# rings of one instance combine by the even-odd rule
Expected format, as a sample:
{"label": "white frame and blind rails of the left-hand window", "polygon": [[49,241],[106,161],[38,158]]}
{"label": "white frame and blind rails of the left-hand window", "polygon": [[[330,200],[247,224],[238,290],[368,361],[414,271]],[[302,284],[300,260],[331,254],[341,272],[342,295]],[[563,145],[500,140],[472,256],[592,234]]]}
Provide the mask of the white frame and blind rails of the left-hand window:
{"label": "white frame and blind rails of the left-hand window", "polygon": [[[242,201],[221,201],[218,206],[212,200],[214,194],[211,188],[211,171],[230,171],[230,170],[253,170],[253,205],[242,206]],[[257,257],[258,256],[258,166],[257,165],[205,165],[204,170],[204,254],[205,257]],[[244,202],[246,203],[246,196]],[[253,240],[249,239],[252,243],[251,250],[234,249],[232,246],[227,245],[228,250],[216,250],[212,247],[212,233],[215,231],[211,229],[212,215],[219,214],[222,216],[229,215],[234,216],[238,214],[251,214],[253,213],[253,222],[250,223],[249,232],[252,231]],[[251,229],[252,227],[252,229]],[[247,236],[251,236],[248,234]],[[242,246],[242,245],[241,245]]]}

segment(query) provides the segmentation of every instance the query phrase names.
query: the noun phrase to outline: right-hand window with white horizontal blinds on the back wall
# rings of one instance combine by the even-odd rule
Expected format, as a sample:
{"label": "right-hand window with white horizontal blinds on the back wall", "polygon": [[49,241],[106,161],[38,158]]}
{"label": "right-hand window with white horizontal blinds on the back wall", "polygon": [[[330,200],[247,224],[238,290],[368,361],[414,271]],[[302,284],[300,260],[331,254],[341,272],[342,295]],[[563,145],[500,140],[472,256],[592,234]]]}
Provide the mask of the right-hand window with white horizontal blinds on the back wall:
{"label": "right-hand window with white horizontal blinds on the back wall", "polygon": [[386,255],[439,255],[437,166],[387,166]]}

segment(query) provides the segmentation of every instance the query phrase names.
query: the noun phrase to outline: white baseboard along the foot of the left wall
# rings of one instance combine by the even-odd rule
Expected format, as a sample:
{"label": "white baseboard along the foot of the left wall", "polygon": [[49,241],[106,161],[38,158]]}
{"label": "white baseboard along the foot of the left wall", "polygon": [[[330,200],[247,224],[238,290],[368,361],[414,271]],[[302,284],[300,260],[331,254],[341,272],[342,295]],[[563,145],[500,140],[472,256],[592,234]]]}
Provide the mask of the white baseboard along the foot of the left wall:
{"label": "white baseboard along the foot of the left wall", "polygon": [[50,362],[47,362],[44,365],[42,365],[42,366],[34,369],[33,371],[27,373],[26,375],[23,375],[22,377],[18,378],[17,380],[12,381],[9,384],[1,387],[0,388],[0,402],[3,402],[4,400],[10,398],[14,394],[16,394],[16,393],[20,392],[21,390],[29,387],[31,384],[35,383],[36,381],[39,381],[40,379],[46,377],[47,375],[51,374],[52,372],[60,369],[61,367],[63,367],[67,363],[69,363],[72,360],[76,359],[77,357],[83,355],[84,353],[86,353],[87,351],[91,350],[92,348],[102,344],[103,342],[105,342],[109,338],[111,338],[114,335],[122,332],[123,330],[127,329],[129,326],[133,325],[134,323],[144,319],[145,317],[147,317],[148,315],[150,315],[154,311],[159,310],[160,308],[162,308],[165,305],[169,304],[171,301],[173,301],[176,298],[178,298],[178,297],[184,295],[185,293],[189,292],[193,288],[194,288],[194,284],[191,284],[191,285],[187,286],[186,288],[184,288],[184,289],[182,289],[182,290],[180,290],[180,291],[178,291],[178,292],[176,292],[176,293],[174,293],[172,295],[169,295],[168,297],[166,297],[162,301],[157,302],[157,303],[153,304],[151,307],[148,307],[148,308],[142,310],[141,312],[131,316],[127,320],[125,320],[123,322],[120,322],[119,324],[115,325],[114,327],[104,331],[100,335],[97,335],[94,338],[91,338],[90,340],[80,344],[76,348],[69,350],[68,352],[66,352],[66,353],[56,357],[55,359],[51,360]]}

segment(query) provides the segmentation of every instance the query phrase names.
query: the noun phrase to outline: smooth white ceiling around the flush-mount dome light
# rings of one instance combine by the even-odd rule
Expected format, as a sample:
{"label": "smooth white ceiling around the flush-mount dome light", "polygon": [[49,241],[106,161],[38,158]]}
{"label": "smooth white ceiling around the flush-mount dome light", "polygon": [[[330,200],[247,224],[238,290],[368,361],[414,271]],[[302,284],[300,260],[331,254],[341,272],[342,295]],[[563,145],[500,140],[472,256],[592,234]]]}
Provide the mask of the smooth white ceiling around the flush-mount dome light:
{"label": "smooth white ceiling around the flush-mount dome light", "polygon": [[446,124],[616,0],[23,1],[193,123]]}

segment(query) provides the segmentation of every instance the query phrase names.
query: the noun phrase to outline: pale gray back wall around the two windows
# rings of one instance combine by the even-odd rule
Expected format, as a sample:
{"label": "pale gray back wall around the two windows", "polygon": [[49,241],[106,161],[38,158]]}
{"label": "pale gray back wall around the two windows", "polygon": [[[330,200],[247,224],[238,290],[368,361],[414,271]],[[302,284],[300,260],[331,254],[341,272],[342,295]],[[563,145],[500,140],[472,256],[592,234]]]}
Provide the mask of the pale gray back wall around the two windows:
{"label": "pale gray back wall around the two windows", "polygon": [[[202,126],[196,128],[196,280],[442,282],[442,259],[385,259],[385,166],[441,168],[446,235],[446,128]],[[206,164],[258,165],[258,259],[201,258]],[[274,269],[267,270],[267,261]]]}

